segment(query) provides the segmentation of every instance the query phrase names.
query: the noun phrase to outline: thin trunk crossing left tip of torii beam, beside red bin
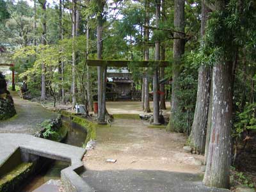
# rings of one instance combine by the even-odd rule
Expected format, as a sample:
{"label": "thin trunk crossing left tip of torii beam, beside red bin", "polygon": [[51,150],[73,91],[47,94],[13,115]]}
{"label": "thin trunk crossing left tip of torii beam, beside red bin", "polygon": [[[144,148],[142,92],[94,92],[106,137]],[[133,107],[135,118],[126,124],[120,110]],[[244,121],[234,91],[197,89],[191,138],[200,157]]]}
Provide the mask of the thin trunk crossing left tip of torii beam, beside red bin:
{"label": "thin trunk crossing left tip of torii beam, beside red bin", "polygon": [[[87,19],[86,24],[86,59],[89,58],[89,39],[90,39],[90,28],[89,28],[89,19]],[[91,82],[91,73],[90,73],[90,66],[87,65],[87,80],[86,80],[86,86],[87,86],[87,99],[88,99],[88,106],[89,111],[93,111],[93,99],[92,99],[92,82]]]}

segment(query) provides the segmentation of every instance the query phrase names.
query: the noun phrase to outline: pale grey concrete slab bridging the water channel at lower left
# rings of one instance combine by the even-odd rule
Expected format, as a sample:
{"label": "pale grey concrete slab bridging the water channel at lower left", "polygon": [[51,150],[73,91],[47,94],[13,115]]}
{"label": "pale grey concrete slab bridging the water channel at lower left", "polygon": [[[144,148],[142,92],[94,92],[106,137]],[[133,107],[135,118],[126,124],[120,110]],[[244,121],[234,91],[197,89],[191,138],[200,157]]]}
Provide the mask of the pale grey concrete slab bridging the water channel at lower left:
{"label": "pale grey concrete slab bridging the water channel at lower left", "polygon": [[66,192],[92,192],[94,191],[79,176],[85,170],[81,159],[86,150],[64,143],[36,138],[28,134],[0,134],[0,166],[20,148],[24,154],[47,157],[65,161],[71,164],[68,168],[61,170],[61,180]]}

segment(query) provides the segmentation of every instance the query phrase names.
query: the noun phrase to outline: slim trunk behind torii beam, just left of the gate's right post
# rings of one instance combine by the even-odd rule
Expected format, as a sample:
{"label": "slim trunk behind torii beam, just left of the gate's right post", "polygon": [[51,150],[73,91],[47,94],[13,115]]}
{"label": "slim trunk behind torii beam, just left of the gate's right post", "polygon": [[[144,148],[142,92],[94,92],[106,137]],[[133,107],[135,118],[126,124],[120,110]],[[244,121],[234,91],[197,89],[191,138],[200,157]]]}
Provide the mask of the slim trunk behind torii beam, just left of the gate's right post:
{"label": "slim trunk behind torii beam, just left of the gate's right post", "polygon": [[[146,10],[146,18],[145,18],[145,26],[149,26],[149,1],[145,1],[145,10]],[[145,28],[145,44],[148,44],[148,39],[149,39],[149,30],[148,28]],[[149,60],[149,50],[148,50],[148,45],[145,45],[145,55],[144,55],[144,60],[148,61]],[[145,68],[145,78],[144,78],[144,112],[145,113],[150,113],[150,104],[149,104],[149,80],[148,80],[148,72],[147,68]]]}

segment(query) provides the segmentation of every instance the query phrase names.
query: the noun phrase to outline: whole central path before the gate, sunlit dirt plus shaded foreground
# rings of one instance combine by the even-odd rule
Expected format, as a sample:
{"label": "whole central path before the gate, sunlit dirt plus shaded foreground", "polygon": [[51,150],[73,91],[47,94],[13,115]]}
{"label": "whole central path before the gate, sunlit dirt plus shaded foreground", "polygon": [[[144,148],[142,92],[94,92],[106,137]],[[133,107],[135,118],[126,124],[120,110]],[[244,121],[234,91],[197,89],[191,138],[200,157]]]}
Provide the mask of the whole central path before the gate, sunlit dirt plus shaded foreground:
{"label": "whole central path before the gate, sunlit dirt plus shaded foreground", "polygon": [[185,143],[182,134],[118,119],[97,128],[97,145],[84,156],[81,176],[98,192],[227,192],[202,184],[202,156],[185,153]]}

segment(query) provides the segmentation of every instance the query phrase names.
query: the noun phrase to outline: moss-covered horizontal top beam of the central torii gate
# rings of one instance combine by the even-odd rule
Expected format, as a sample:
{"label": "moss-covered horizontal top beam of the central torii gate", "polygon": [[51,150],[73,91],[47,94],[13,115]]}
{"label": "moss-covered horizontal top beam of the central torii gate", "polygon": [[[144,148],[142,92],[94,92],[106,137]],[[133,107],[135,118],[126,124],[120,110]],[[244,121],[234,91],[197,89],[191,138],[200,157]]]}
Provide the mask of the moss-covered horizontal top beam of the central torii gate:
{"label": "moss-covered horizontal top beam of the central torii gate", "polygon": [[132,62],[137,63],[136,67],[152,67],[152,66],[168,67],[168,65],[170,65],[169,61],[128,61],[128,60],[87,60],[87,65],[94,66],[94,67],[128,67],[128,64]]}

